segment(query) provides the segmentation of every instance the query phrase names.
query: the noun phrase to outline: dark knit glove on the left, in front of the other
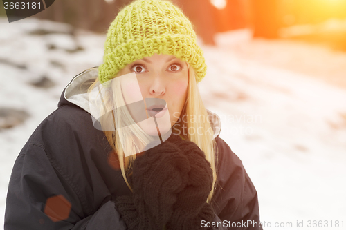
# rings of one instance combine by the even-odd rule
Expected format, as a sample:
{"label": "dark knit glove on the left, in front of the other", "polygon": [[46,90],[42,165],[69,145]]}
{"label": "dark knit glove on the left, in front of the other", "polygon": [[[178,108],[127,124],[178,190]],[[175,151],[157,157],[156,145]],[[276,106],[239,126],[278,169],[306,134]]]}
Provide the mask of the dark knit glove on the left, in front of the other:
{"label": "dark knit glove on the left, in front of the other", "polygon": [[115,200],[129,230],[162,230],[172,217],[177,194],[188,183],[189,161],[170,142],[180,137],[171,137],[136,158],[129,178],[134,193]]}

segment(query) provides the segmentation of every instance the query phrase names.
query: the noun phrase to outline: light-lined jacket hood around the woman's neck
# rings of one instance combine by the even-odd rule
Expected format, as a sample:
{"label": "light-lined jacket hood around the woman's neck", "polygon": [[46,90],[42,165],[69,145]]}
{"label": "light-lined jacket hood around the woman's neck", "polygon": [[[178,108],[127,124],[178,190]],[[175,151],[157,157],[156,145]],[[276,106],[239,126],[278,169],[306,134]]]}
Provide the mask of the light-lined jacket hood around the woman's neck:
{"label": "light-lined jacket hood around the woman's neck", "polygon": [[[84,109],[84,111],[91,113],[89,107],[89,96],[86,91],[95,81],[96,77],[98,77],[98,66],[88,68],[82,73],[75,75],[71,82],[64,88],[57,107],[59,108],[69,104],[79,106],[80,108]],[[207,112],[211,118],[211,126],[212,130],[214,131],[214,138],[216,138],[221,131],[221,119],[216,113],[212,113],[212,111],[209,111],[208,109]]]}

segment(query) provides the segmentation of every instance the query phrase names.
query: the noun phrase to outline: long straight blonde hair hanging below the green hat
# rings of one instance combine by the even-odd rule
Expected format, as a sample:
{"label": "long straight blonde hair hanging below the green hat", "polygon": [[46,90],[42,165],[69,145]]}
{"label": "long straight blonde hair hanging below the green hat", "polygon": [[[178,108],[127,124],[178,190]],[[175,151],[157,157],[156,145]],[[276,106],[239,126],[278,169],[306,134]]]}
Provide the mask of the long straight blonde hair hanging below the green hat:
{"label": "long straight blonde hair hanging below the green hat", "polygon": [[[188,64],[188,63],[187,63]],[[118,77],[120,75],[120,72],[115,77]],[[212,195],[215,190],[215,182],[217,180],[217,174],[216,174],[216,157],[215,157],[215,148],[217,147],[216,142],[213,138],[213,131],[212,127],[210,125],[210,122],[208,120],[208,112],[206,111],[206,108],[203,104],[203,101],[201,99],[201,95],[199,94],[199,89],[197,86],[197,73],[195,72],[194,68],[188,64],[188,95],[186,97],[186,102],[183,110],[181,111],[181,115],[179,117],[178,122],[174,124],[173,130],[179,130],[179,134],[184,133],[182,132],[182,124],[185,122],[186,119],[183,119],[183,117],[186,117],[188,121],[185,123],[185,127],[188,129],[188,132],[186,135],[183,135],[183,137],[187,140],[190,140],[191,142],[194,142],[201,148],[201,150],[206,154],[206,160],[210,162],[210,166],[213,172],[213,182],[212,182],[212,190],[210,191],[210,194],[208,195],[208,202],[212,199]],[[88,93],[93,90],[95,87],[95,84],[99,82],[98,77],[95,79],[95,82],[91,84],[91,86],[88,89]],[[113,81],[116,82],[116,81]],[[111,111],[113,108],[116,108],[114,106],[115,104],[125,104],[123,101],[123,97],[121,97],[121,88],[119,84],[112,84],[111,85],[111,92],[107,95],[103,95],[104,99],[104,107],[100,106],[101,113],[104,114],[103,110],[106,109],[106,111]],[[134,160],[136,160],[136,154],[131,154],[127,157],[125,157],[122,144],[125,144],[127,147],[126,149],[129,149],[132,153],[138,153],[138,149],[143,149],[143,146],[136,146],[135,143],[140,143],[140,140],[143,140],[142,143],[148,143],[147,142],[147,136],[145,135],[144,131],[136,125],[135,122],[133,122],[131,119],[131,115],[129,115],[129,112],[127,111],[121,111],[121,113],[128,113],[128,114],[122,114],[121,116],[115,115],[115,113],[107,113],[106,115],[102,116],[102,119],[100,119],[100,124],[102,126],[102,130],[104,132],[104,135],[106,136],[111,148],[113,151],[118,155],[118,160],[120,164],[120,170],[122,172],[122,177],[124,178],[127,186],[132,191],[131,186],[127,180],[127,176],[131,174],[131,166],[134,163]],[[110,126],[118,125],[124,121],[121,119],[130,119],[129,121],[125,121],[127,124],[134,124],[131,128],[132,133],[128,133],[129,130],[125,129],[116,129],[114,127],[114,130],[109,130]],[[197,117],[197,118],[196,118]],[[203,117],[203,119],[200,119]],[[193,120],[193,122],[192,122]],[[120,131],[121,130],[121,131]],[[189,131],[194,131],[193,133],[190,133]],[[131,135],[132,134],[132,135]],[[132,140],[132,138],[128,138],[129,135],[131,137],[137,138],[136,141]],[[174,134],[172,134],[174,135]],[[139,140],[139,142],[138,142]]]}

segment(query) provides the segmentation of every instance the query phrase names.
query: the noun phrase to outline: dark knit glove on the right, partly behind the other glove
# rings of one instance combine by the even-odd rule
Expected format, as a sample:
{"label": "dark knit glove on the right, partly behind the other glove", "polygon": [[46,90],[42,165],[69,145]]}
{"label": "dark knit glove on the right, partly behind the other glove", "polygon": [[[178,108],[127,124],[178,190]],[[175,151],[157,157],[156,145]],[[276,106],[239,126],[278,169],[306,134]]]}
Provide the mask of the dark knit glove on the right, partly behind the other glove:
{"label": "dark knit glove on the right, partly behind the other glove", "polygon": [[212,189],[212,169],[197,144],[188,140],[173,141],[188,158],[191,169],[188,184],[177,195],[178,200],[167,229],[202,229],[202,220],[212,222],[215,217],[212,207],[206,202]]}

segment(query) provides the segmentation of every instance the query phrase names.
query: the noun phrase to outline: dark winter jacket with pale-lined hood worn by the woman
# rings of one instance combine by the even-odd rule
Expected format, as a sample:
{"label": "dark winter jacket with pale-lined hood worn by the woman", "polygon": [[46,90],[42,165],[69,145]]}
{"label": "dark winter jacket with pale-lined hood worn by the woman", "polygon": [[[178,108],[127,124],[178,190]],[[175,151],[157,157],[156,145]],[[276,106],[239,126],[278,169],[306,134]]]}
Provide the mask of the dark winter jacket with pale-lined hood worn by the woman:
{"label": "dark winter jacket with pale-lined hood worn by the woman", "polygon": [[[88,86],[81,84],[97,75],[95,67],[75,76],[58,108],[19,153],[8,187],[5,230],[126,229],[113,200],[131,191],[121,171],[109,164],[111,147],[93,126]],[[219,117],[208,113],[213,115],[219,161],[212,198],[215,221],[228,229],[262,229],[244,227],[247,220],[260,223],[257,192],[242,161],[219,137]]]}

